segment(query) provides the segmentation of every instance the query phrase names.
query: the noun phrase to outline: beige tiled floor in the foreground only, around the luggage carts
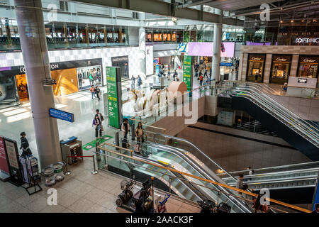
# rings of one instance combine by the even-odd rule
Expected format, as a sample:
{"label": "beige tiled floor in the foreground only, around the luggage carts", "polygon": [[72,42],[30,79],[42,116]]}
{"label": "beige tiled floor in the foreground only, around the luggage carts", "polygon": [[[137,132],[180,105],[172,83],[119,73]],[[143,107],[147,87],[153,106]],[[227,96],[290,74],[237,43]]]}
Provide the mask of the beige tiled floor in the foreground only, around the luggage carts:
{"label": "beige tiled floor in the foreground only, around the luggage carts", "polygon": [[[43,191],[28,195],[23,187],[16,187],[9,182],[0,182],[0,213],[123,213],[129,212],[116,206],[117,195],[121,193],[120,182],[123,177],[109,172],[99,172],[91,175],[92,160],[78,162],[69,167],[72,174],[65,176],[62,182],[57,182],[52,188],[57,189],[57,205],[48,205],[47,190],[50,187],[40,184]],[[155,198],[159,196],[155,193]],[[169,198],[167,211],[196,212],[198,206],[186,204],[174,198]]]}

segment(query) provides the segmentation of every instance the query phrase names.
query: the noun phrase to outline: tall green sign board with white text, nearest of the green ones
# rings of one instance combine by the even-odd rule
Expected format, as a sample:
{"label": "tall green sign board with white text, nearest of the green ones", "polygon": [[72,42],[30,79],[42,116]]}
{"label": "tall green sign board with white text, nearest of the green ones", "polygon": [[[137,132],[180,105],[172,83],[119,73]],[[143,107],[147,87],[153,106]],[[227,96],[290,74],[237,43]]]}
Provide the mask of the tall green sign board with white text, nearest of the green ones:
{"label": "tall green sign board with white text, nearest of the green ones", "polygon": [[114,128],[120,128],[120,111],[118,97],[118,84],[116,67],[106,67],[106,83],[108,88],[108,124]]}

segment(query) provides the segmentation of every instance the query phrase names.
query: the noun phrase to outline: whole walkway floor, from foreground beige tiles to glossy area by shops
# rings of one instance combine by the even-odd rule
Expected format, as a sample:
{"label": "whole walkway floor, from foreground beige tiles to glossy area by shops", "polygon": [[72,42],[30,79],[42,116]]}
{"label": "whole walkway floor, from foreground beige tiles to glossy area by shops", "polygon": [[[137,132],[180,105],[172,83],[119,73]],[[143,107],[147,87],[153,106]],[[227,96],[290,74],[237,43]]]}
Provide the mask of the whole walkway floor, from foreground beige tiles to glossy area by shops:
{"label": "whole walkway floor, from foreground beige tiles to glossy area by shops", "polygon": [[[152,77],[147,78],[147,82],[152,82]],[[146,84],[146,83],[145,83]],[[130,87],[130,81],[123,82],[123,89]],[[101,88],[106,92],[106,88]],[[90,92],[79,92],[68,96],[55,97],[57,109],[74,113],[76,121],[68,123],[58,121],[60,139],[69,138],[74,135],[82,140],[82,144],[95,139],[91,121],[95,114],[95,109],[100,109],[103,113],[102,101],[91,100]],[[106,123],[105,123],[106,125]],[[38,156],[34,138],[33,120],[30,114],[30,104],[11,107],[0,110],[1,135],[11,138],[20,145],[20,133],[26,131],[30,143],[30,149],[35,157]],[[114,135],[116,130],[104,127],[104,133]],[[84,151],[89,155],[89,151]],[[48,187],[44,185],[44,179],[40,184],[43,191],[28,195],[23,187],[16,187],[9,182],[0,181],[0,213],[2,212],[128,212],[118,208],[115,204],[117,195],[121,193],[120,182],[123,177],[113,175],[108,172],[99,172],[91,175],[93,170],[92,160],[86,159],[77,165],[69,167],[72,174],[65,176],[62,182],[55,184],[57,189],[57,205],[48,205]],[[158,194],[157,194],[158,195]],[[169,212],[199,212],[198,206],[186,204],[177,199],[170,198],[167,203]]]}

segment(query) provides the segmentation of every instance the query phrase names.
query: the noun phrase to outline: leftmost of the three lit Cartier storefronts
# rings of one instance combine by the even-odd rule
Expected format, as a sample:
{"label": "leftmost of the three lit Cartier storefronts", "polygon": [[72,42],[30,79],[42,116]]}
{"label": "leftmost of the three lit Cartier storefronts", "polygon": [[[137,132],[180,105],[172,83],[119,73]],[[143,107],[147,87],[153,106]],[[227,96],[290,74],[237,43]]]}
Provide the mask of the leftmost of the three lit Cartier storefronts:
{"label": "leftmost of the three lit Cartier storefronts", "polygon": [[263,54],[249,54],[246,81],[262,83],[264,80],[264,60]]}

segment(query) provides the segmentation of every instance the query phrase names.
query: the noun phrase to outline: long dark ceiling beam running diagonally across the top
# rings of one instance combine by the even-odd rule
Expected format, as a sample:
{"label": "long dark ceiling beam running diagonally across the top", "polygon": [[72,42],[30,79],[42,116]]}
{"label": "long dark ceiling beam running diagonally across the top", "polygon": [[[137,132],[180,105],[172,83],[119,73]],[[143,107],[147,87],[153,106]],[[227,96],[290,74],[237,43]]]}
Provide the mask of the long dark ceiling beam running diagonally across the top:
{"label": "long dark ceiling beam running diagonally across the top", "polygon": [[173,16],[177,18],[191,19],[194,21],[206,21],[209,23],[225,23],[230,26],[244,26],[244,21],[235,18],[223,20],[223,16],[214,13],[198,11],[196,9],[175,10],[174,4],[159,0],[73,0],[82,4],[107,6],[111,8],[127,9],[153,13],[161,16]]}

